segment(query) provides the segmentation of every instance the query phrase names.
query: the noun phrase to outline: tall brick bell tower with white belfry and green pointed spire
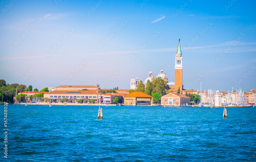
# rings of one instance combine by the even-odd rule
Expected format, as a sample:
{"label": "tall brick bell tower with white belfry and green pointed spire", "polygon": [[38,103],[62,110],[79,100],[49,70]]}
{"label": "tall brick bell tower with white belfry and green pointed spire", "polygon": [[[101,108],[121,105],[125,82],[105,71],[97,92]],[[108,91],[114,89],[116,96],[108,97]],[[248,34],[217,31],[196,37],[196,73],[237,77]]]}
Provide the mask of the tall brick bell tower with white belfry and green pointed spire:
{"label": "tall brick bell tower with white belfry and green pointed spire", "polygon": [[[180,41],[180,39],[179,39]],[[175,90],[183,90],[182,87],[182,53],[181,53],[181,49],[180,49],[180,44],[178,45],[178,49],[176,52],[176,57],[175,57]]]}

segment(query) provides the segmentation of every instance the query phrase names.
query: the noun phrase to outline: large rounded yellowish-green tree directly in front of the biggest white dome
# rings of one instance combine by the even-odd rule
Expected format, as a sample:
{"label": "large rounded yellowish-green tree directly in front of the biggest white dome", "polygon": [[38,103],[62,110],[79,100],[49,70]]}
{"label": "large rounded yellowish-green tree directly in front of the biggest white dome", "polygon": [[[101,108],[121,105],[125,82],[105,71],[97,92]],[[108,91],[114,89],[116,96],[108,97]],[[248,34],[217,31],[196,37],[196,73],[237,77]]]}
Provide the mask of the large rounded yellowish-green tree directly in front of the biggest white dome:
{"label": "large rounded yellowish-green tree directly in front of the biggest white dome", "polygon": [[161,96],[166,95],[166,81],[164,81],[161,77],[155,78],[151,82],[152,93],[159,93]]}

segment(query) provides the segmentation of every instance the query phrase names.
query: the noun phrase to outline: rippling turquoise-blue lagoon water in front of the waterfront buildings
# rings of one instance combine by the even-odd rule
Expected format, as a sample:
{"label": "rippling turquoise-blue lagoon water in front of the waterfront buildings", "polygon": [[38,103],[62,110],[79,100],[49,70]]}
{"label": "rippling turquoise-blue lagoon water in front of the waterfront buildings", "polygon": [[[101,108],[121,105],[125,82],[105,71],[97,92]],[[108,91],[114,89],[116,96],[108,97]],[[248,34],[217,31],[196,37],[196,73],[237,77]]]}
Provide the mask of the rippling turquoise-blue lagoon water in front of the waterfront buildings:
{"label": "rippling turquoise-blue lagoon water in front of the waterfront buildings", "polygon": [[99,120],[98,106],[8,105],[0,161],[256,161],[252,107],[102,108]]}

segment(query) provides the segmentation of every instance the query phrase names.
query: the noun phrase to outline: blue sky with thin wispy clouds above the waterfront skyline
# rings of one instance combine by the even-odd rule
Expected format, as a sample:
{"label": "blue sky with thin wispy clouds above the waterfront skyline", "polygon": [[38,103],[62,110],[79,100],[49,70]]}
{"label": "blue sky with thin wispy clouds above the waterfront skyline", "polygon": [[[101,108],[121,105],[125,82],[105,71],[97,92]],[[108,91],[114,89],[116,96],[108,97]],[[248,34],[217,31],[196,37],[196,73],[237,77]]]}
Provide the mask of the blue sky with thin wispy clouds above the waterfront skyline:
{"label": "blue sky with thin wispy clouds above the waterfront skyline", "polygon": [[0,79],[130,89],[163,67],[174,82],[180,39],[184,88],[256,88],[255,1],[56,2],[1,1]]}

